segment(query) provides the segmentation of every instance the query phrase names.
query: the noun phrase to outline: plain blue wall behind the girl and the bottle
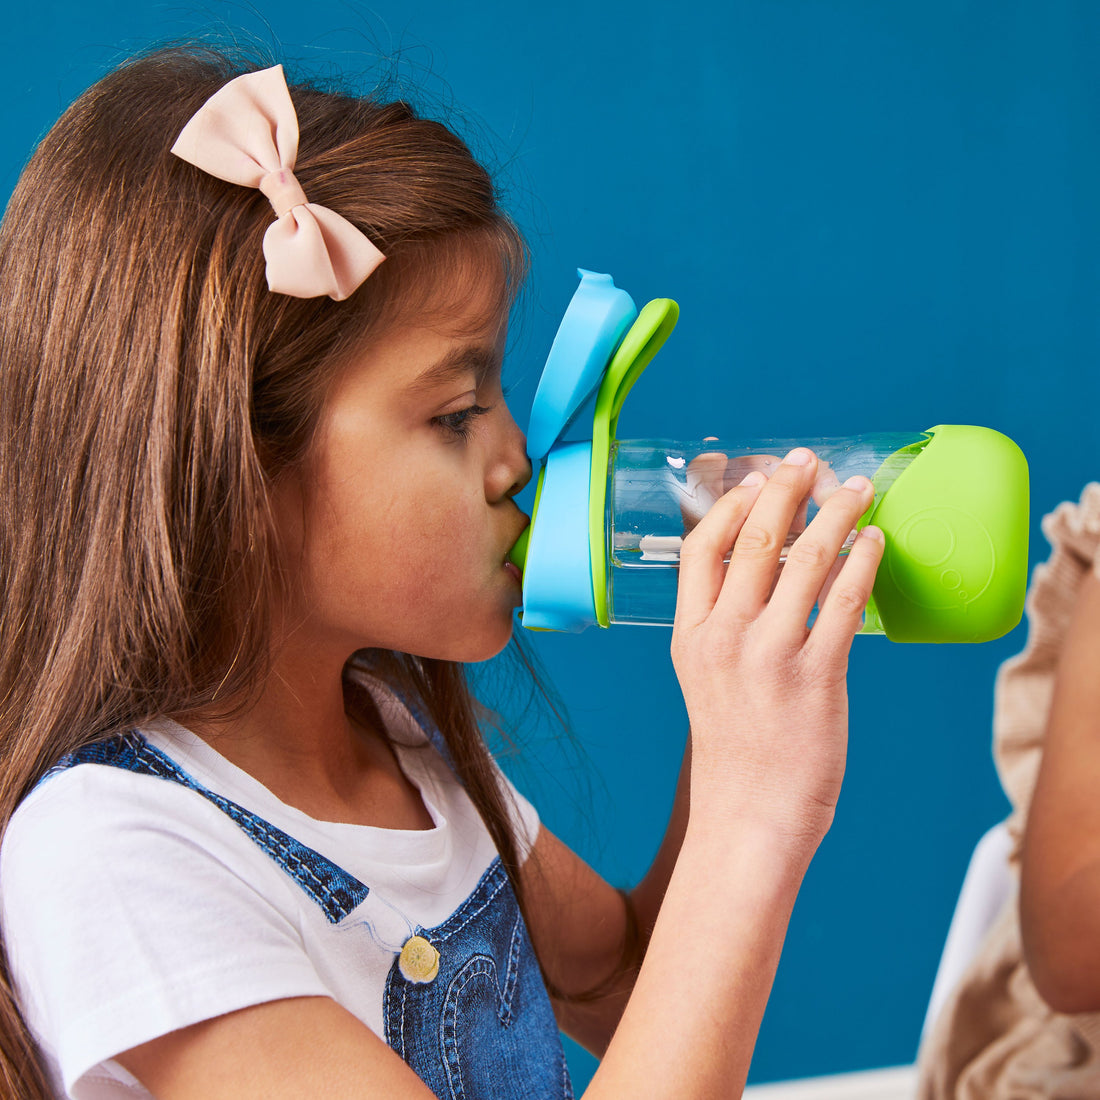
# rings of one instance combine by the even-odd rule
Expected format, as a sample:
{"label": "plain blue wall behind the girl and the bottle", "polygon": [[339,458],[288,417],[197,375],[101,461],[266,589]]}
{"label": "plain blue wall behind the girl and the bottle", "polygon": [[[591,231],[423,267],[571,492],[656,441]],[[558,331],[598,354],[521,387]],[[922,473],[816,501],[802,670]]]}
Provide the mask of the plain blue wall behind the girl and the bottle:
{"label": "plain blue wall behind the girl and the bottle", "polygon": [[[306,20],[299,8],[9,11],[0,187],[82,87],[152,40],[223,21],[322,68],[398,55],[480,120],[531,235],[509,366],[521,420],[573,268],[608,271],[639,301],[682,307],[620,436],[989,424],[1031,459],[1032,560],[1045,556],[1037,517],[1098,472],[1100,6],[314,0]],[[624,882],[659,840],[683,743],[668,640],[630,628],[536,640],[579,744],[535,725],[517,774]],[[1023,640],[857,639],[848,777],[754,1080],[912,1058],[969,850],[1005,809],[991,689]],[[587,1063],[575,1066],[581,1084]]]}

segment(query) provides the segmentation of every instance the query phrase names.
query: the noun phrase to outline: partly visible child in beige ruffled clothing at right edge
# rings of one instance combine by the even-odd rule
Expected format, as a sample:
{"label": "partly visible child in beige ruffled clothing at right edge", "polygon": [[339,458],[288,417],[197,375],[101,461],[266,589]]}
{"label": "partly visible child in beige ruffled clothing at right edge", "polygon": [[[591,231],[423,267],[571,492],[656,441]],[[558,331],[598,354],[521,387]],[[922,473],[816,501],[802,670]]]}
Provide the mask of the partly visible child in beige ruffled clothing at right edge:
{"label": "partly visible child in beige ruffled clothing at right edge", "polygon": [[922,1100],[1100,1096],[1100,486],[1043,530],[1053,552],[1028,595],[1027,646],[997,683],[1019,895],[928,1034]]}

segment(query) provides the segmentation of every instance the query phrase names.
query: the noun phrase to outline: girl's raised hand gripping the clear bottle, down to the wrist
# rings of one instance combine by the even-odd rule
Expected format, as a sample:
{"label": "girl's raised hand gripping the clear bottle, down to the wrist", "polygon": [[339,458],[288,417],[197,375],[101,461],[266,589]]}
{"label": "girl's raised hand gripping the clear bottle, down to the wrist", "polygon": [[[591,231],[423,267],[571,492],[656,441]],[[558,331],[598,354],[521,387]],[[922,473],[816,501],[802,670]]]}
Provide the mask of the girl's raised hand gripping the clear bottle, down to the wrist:
{"label": "girl's raised hand gripping the clear bottle, down to the wrist", "polygon": [[798,448],[770,480],[749,473],[710,509],[684,539],[672,634],[692,724],[692,825],[762,824],[807,859],[840,790],[848,650],[883,549],[882,534],[865,528],[823,596],[873,495],[866,477],[853,477],[823,503],[774,582],[818,473],[816,457]]}

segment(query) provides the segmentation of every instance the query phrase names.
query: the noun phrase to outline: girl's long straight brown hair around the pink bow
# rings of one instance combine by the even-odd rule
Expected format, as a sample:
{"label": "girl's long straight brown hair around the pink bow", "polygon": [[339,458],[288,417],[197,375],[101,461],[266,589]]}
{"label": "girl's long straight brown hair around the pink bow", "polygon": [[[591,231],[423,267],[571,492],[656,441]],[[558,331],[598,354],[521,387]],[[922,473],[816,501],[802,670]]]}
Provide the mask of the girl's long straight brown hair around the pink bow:
{"label": "girl's long straight brown hair around the pink bow", "polygon": [[[471,272],[502,310],[522,280],[522,240],[454,133],[404,102],[293,84],[297,177],[388,258],[343,302],[270,294],[267,200],[169,153],[257,67],[189,46],[125,63],[44,138],[0,224],[0,828],[81,744],[246,705],[279,583],[267,490],[307,453],[341,355],[402,311],[443,308]],[[515,871],[464,670],[375,667],[439,725]],[[50,1096],[7,968],[0,1088]]]}

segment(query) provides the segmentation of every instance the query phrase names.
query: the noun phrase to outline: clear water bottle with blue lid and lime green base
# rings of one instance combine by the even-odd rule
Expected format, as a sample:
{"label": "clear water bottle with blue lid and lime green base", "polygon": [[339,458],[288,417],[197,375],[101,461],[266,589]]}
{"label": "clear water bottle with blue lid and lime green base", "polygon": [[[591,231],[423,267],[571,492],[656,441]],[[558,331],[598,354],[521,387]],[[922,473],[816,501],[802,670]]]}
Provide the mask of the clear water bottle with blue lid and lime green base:
{"label": "clear water bottle with blue lid and lime green base", "polygon": [[[970,425],[848,439],[618,440],[626,395],[678,309],[658,299],[639,312],[610,276],[580,275],[531,408],[539,480],[531,524],[510,554],[522,570],[524,626],[671,625],[684,536],[727,488],[750,470],[770,475],[794,447],[814,451],[818,470],[780,569],[820,505],[861,474],[875,499],[858,526],[873,521],[886,536],[862,632],[987,641],[1020,622],[1028,487],[1012,440]],[[593,395],[587,438],[565,439]]]}

